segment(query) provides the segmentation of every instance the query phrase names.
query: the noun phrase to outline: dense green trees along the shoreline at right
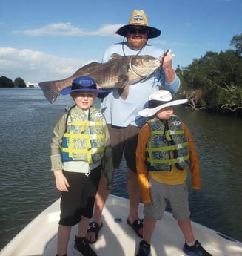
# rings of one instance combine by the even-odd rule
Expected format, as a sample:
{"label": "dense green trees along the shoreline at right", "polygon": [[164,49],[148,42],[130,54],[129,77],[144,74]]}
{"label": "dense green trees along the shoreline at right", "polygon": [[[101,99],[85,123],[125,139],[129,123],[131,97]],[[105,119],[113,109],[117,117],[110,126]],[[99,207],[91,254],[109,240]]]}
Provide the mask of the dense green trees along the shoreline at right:
{"label": "dense green trees along the shoreline at right", "polygon": [[209,51],[191,65],[178,67],[179,94],[186,95],[192,108],[242,114],[242,58],[238,48]]}

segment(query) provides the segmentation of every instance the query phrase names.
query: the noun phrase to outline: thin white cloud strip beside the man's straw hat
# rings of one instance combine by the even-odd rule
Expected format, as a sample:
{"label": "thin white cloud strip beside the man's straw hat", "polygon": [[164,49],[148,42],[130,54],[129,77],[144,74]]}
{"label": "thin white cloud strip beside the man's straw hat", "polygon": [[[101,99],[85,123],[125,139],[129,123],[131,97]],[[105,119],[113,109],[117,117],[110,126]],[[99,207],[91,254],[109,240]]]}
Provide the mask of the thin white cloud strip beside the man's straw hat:
{"label": "thin white cloud strip beside the man's straw hat", "polygon": [[33,30],[15,30],[13,33],[21,33],[28,36],[115,36],[115,31],[123,24],[106,24],[98,30],[84,30],[71,26],[70,22],[48,24],[47,26]]}

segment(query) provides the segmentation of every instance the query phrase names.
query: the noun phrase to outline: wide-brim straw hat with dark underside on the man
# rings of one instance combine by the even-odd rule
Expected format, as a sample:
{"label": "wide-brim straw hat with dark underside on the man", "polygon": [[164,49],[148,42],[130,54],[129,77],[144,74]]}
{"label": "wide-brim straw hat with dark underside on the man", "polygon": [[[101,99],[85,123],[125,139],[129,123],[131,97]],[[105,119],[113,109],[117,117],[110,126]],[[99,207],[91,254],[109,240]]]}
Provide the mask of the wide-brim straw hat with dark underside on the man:
{"label": "wide-brim straw hat with dark underside on the man", "polygon": [[120,27],[116,33],[120,36],[127,36],[127,30],[132,26],[147,27],[149,30],[148,38],[152,39],[161,35],[161,30],[155,27],[149,27],[147,15],[144,10],[134,10],[130,16],[129,24]]}

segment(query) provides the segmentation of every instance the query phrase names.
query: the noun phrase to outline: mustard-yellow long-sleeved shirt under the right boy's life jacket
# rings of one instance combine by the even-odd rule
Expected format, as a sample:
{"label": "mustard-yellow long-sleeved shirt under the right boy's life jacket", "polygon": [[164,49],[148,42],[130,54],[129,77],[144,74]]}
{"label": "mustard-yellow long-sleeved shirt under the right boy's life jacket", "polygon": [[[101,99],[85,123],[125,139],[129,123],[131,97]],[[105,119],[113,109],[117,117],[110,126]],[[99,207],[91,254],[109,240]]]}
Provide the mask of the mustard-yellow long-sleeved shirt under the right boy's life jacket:
{"label": "mustard-yellow long-sleeved shirt under the right boy's life jacket", "polygon": [[[198,154],[195,148],[195,144],[192,140],[189,130],[181,121],[181,125],[184,129],[184,134],[189,144],[189,155],[190,155],[190,166],[189,169],[192,174],[192,188],[199,189],[201,188],[201,175],[198,161]],[[151,203],[150,191],[149,191],[149,180],[148,180],[148,171],[146,165],[146,144],[149,140],[150,128],[148,124],[145,124],[138,135],[138,145],[136,149],[136,168],[138,175],[138,183],[141,187],[141,196],[143,203]],[[170,152],[172,156],[172,151]],[[175,165],[172,165],[172,171],[149,171],[149,176],[154,180],[168,184],[168,185],[178,185],[185,183],[187,177],[187,171],[178,170]]]}

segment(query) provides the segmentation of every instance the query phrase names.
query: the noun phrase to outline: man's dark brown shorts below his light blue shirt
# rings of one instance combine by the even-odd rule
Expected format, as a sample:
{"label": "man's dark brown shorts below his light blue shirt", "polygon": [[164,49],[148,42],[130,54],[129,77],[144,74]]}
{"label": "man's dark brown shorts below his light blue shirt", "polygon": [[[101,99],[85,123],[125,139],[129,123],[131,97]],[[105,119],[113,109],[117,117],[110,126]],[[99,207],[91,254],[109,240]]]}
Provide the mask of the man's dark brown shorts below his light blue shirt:
{"label": "man's dark brown shorts below his light blue shirt", "polygon": [[114,168],[118,168],[123,154],[126,165],[131,171],[136,172],[135,152],[140,128],[134,125],[119,127],[107,125],[112,143],[112,160]]}

